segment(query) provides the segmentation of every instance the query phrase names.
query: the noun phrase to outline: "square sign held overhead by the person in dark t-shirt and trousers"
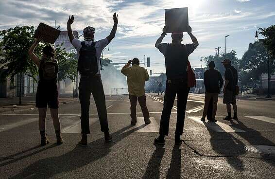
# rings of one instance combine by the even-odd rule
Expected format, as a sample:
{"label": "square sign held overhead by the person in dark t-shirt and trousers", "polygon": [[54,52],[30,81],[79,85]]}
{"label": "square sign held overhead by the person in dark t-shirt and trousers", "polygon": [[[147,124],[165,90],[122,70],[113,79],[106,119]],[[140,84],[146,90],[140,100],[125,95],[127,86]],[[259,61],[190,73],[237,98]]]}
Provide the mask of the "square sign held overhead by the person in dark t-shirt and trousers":
{"label": "square sign held overhead by the person in dark t-shirt and trousers", "polygon": [[187,32],[188,8],[165,9],[165,25],[167,33]]}

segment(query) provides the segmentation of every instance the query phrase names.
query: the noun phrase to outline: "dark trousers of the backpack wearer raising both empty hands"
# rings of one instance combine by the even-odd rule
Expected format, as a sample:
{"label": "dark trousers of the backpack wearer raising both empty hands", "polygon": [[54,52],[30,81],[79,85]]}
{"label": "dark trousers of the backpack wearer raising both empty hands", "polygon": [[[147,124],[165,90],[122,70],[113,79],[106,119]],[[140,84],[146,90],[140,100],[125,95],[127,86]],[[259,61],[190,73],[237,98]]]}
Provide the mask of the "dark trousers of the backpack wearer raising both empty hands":
{"label": "dark trousers of the backpack wearer raising both empty hands", "polygon": [[90,133],[89,125],[89,108],[91,93],[93,94],[99,121],[101,125],[101,131],[107,132],[108,119],[107,110],[105,104],[105,94],[100,75],[81,77],[79,82],[79,101],[81,105],[81,134],[86,135]]}

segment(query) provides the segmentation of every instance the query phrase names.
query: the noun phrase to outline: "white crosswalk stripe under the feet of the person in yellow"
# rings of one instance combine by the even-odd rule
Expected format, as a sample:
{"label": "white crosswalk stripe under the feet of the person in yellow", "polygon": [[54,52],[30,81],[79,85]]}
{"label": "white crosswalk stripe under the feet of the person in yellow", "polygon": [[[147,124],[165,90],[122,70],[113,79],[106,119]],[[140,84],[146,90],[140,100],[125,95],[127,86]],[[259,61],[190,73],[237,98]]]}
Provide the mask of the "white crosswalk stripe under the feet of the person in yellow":
{"label": "white crosswalk stripe under the feet of the person in yellow", "polygon": [[[158,132],[159,131],[159,125],[158,123],[155,121],[154,117],[150,117],[150,121],[151,124],[149,125],[145,125],[144,127],[138,129],[135,132]],[[140,127],[141,125],[144,125],[144,118],[143,117],[137,117],[137,124],[134,125],[133,127],[129,128],[128,130],[126,130],[125,132],[132,130],[134,128]],[[124,132],[123,132],[124,133]]]}

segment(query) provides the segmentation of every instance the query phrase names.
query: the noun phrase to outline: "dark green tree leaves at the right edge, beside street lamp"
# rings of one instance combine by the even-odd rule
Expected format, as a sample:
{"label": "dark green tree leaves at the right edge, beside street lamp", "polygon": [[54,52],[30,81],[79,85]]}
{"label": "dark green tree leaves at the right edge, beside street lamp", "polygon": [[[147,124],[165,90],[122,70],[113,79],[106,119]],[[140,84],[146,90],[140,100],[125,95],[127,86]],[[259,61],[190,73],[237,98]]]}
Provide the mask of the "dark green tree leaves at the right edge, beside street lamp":
{"label": "dark green tree leaves at the right edge, beside street lamp", "polygon": [[259,28],[262,32],[261,35],[265,36],[263,39],[263,44],[270,52],[272,58],[275,58],[275,25],[272,25],[268,28]]}

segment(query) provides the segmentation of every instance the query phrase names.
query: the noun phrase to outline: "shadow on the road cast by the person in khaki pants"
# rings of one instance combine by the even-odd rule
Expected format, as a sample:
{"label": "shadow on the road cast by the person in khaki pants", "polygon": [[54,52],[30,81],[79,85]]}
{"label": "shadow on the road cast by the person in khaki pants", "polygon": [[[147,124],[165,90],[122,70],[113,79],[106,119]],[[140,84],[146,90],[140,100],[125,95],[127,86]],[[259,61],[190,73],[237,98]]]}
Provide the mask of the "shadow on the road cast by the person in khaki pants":
{"label": "shadow on the road cast by the person in khaki pants", "polygon": [[[204,124],[206,125],[206,128],[211,137],[210,143],[212,149],[219,156],[225,157],[227,163],[230,164],[230,166],[232,166],[236,170],[243,171],[243,161],[241,161],[239,156],[246,153],[245,149],[243,148],[244,143],[242,143],[239,139],[235,138],[232,134],[225,132],[223,128],[220,127],[220,125],[217,125],[216,123],[204,122]],[[224,132],[216,132],[211,128],[215,128],[217,131]]]}

